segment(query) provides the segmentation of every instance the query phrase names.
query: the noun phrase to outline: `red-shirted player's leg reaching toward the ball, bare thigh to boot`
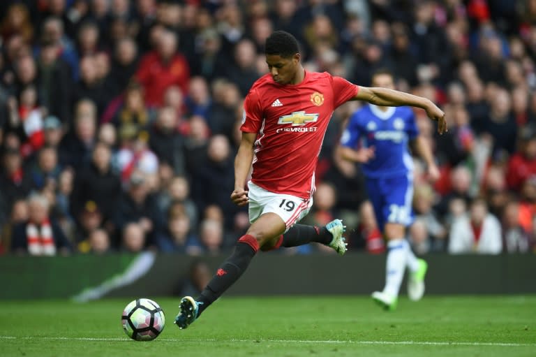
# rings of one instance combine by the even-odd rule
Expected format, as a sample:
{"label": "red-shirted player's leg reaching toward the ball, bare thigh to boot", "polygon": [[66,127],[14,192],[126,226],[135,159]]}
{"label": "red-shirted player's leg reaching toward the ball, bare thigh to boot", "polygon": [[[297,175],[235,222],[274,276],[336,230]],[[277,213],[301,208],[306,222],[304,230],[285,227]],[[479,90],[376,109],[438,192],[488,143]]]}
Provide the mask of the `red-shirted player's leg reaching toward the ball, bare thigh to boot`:
{"label": "red-shirted player's leg reaching toward the ball, bare thigh to boot", "polygon": [[241,277],[253,256],[257,254],[259,247],[277,239],[285,230],[285,221],[277,214],[268,212],[256,219],[246,234],[239,238],[231,256],[216,270],[216,275],[212,277],[200,296],[196,299],[190,296],[182,298],[181,311],[175,318],[177,326],[182,329],[193,323],[204,309],[214,303]]}

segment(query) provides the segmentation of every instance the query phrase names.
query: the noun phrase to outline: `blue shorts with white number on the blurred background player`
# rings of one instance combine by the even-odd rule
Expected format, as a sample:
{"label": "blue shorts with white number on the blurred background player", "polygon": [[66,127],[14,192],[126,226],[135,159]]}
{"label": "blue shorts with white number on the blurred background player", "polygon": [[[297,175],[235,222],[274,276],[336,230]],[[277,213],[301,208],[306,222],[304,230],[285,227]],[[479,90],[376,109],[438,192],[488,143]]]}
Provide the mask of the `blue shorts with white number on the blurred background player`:
{"label": "blue shorts with white number on the blurred background player", "polygon": [[367,178],[365,184],[380,231],[383,231],[386,223],[404,226],[412,224],[413,177],[411,173],[386,178]]}

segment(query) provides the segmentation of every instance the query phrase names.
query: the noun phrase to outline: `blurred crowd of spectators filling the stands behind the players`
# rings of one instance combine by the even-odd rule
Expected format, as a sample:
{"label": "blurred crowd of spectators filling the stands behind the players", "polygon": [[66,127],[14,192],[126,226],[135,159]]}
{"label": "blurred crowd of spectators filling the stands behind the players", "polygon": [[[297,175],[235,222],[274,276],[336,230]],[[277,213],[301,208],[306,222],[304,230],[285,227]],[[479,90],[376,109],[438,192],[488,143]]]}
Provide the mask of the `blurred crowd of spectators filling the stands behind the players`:
{"label": "blurred crowd of spectators filling the stands behind the players", "polygon": [[[232,247],[248,227],[230,201],[242,103],[276,29],[307,71],[368,86],[389,68],[445,110],[443,136],[415,110],[442,173],[415,159],[417,253],[535,252],[535,0],[4,0],[0,14],[0,254]],[[336,150],[360,105],[332,117],[304,223],[341,217],[350,250],[374,254],[362,173]]]}

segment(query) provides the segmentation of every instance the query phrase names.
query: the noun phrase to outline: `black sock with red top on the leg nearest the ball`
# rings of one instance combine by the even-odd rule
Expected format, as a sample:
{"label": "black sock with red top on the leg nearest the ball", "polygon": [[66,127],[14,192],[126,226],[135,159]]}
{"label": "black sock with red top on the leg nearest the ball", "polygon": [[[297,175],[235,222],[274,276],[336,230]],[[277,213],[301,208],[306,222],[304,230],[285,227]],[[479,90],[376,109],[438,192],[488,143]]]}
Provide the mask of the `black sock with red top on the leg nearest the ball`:
{"label": "black sock with red top on the leg nearest the ball", "polygon": [[216,275],[195,299],[200,303],[198,316],[241,277],[257,251],[258,243],[253,236],[244,235],[238,240],[232,255],[220,265]]}

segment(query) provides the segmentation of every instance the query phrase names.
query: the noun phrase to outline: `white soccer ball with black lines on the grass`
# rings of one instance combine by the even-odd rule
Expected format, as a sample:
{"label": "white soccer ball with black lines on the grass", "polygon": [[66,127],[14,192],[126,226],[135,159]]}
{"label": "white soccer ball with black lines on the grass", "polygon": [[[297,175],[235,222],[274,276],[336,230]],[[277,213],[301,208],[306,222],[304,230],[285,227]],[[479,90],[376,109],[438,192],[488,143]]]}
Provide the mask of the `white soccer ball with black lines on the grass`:
{"label": "white soccer ball with black lines on the grass", "polygon": [[165,325],[163,309],[153,300],[136,299],[126,305],[121,324],[128,337],[136,341],[154,340]]}

